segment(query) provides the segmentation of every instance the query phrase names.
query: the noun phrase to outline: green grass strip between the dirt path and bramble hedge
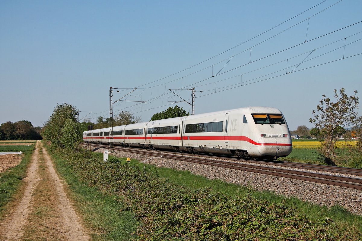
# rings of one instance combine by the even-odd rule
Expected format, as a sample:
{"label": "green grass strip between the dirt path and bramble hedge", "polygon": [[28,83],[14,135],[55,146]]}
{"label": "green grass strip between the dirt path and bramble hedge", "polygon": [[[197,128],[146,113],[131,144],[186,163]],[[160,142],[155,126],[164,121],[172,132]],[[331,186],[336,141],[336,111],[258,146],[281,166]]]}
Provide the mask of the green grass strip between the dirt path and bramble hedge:
{"label": "green grass strip between the dirt path and bramble hedge", "polygon": [[[134,215],[124,209],[121,197],[106,195],[97,188],[79,180],[67,161],[50,152],[55,168],[67,182],[71,197],[92,240],[131,240],[136,231]],[[81,160],[80,160],[81,161]],[[83,160],[82,160],[83,161]]]}

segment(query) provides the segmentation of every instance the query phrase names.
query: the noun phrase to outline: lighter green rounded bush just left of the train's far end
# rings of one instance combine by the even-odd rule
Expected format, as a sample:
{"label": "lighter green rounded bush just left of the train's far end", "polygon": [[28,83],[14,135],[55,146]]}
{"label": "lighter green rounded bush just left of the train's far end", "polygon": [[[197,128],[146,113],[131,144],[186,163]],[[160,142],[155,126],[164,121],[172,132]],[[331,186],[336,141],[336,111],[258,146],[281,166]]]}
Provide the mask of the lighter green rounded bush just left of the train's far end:
{"label": "lighter green rounded bush just left of the train's far end", "polygon": [[78,123],[72,119],[66,119],[59,139],[64,148],[75,150],[76,144],[81,139]]}

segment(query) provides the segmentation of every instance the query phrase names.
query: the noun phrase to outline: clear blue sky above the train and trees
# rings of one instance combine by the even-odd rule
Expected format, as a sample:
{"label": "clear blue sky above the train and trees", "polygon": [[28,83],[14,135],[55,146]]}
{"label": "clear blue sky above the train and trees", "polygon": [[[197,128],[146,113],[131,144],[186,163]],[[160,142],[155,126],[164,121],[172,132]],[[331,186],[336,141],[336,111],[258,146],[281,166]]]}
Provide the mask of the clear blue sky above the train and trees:
{"label": "clear blue sky above the train and trees", "polygon": [[64,102],[106,118],[110,86],[130,100],[114,115],[148,121],[195,87],[196,114],[271,106],[311,128],[323,94],[362,93],[362,1],[322,2],[0,0],[0,124]]}

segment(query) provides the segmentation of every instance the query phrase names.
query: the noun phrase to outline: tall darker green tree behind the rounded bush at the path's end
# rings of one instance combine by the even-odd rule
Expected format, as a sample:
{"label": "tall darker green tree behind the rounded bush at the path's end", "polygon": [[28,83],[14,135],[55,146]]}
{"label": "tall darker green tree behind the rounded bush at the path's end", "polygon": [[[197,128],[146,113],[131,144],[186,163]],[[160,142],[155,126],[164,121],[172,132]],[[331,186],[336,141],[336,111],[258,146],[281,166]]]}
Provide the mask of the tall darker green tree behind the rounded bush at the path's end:
{"label": "tall darker green tree behind the rounded bush at the path's end", "polygon": [[58,104],[54,108],[54,112],[49,117],[49,120],[44,125],[42,137],[46,141],[50,141],[51,145],[54,145],[55,148],[62,148],[63,145],[60,139],[66,120],[70,119],[73,122],[77,122],[77,113],[78,110],[71,104]]}

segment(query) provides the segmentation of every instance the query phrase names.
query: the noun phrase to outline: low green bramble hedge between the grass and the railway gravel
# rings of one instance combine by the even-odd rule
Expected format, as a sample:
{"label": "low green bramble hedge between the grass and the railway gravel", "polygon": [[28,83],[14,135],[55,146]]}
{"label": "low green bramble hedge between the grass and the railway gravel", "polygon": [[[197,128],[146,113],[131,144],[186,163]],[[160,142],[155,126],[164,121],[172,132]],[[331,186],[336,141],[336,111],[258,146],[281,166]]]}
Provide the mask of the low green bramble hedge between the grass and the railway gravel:
{"label": "low green bramble hedge between the grass and the railway gravel", "polygon": [[191,191],[170,184],[150,165],[117,158],[103,163],[89,152],[59,151],[90,186],[118,195],[139,220],[136,240],[359,240],[332,220],[310,220],[285,203],[251,194],[229,198],[211,189]]}

